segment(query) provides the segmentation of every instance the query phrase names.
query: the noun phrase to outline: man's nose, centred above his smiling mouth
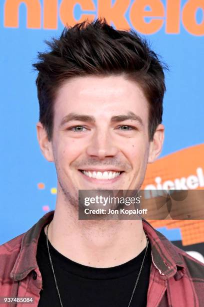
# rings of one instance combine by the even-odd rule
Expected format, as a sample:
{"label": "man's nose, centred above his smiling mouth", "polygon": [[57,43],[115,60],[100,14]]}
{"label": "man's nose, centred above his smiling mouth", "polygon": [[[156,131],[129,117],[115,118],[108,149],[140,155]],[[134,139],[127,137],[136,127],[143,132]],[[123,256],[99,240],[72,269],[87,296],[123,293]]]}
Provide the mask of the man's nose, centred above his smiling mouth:
{"label": "man's nose, centred above his smiling mouth", "polygon": [[97,130],[92,135],[86,153],[88,156],[104,159],[106,157],[114,157],[118,152],[117,146],[108,131],[103,129]]}

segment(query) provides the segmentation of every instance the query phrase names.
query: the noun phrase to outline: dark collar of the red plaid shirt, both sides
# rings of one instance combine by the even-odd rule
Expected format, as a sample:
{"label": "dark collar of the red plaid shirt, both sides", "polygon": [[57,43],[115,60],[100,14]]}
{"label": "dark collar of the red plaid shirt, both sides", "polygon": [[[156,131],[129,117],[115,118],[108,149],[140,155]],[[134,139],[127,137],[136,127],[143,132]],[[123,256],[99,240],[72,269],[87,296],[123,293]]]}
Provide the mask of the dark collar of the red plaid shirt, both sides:
{"label": "dark collar of the red plaid shirt, both sides", "polygon": [[[20,252],[10,273],[11,279],[22,280],[32,270],[38,268],[36,261],[38,238],[42,228],[53,219],[53,214],[54,211],[46,213],[24,233]],[[154,267],[164,278],[174,276],[175,279],[180,279],[184,274],[185,265],[175,247],[147,221],[142,220],[142,224],[151,245],[151,258]]]}

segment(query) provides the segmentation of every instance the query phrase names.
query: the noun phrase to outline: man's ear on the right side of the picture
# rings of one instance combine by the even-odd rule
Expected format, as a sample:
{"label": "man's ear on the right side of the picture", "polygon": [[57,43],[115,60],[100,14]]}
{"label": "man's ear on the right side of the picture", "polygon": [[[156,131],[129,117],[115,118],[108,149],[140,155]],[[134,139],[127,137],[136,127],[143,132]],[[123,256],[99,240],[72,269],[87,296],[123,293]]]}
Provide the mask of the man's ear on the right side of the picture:
{"label": "man's ear on the right side of the picture", "polygon": [[150,142],[149,146],[149,156],[148,163],[152,163],[160,155],[162,145],[164,140],[164,126],[159,124],[153,135],[153,140]]}

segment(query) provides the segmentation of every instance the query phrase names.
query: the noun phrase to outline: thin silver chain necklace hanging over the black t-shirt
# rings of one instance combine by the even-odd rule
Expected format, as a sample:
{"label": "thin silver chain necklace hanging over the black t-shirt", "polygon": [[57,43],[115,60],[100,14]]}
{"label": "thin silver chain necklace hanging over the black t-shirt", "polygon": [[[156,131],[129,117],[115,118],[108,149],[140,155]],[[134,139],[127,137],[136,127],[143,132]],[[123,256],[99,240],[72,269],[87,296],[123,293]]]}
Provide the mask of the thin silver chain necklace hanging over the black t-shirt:
{"label": "thin silver chain necklace hanging over the black t-shirt", "polygon": [[[46,229],[46,244],[47,244],[47,251],[48,251],[48,255],[49,255],[49,262],[50,262],[50,266],[51,266],[51,269],[52,269],[52,273],[53,273],[53,276],[54,276],[54,282],[55,282],[55,286],[56,286],[56,291],[57,291],[57,294],[58,294],[58,297],[59,297],[59,302],[60,302],[60,305],[61,307],[63,307],[63,304],[62,304],[62,301],[61,301],[61,297],[60,297],[60,294],[59,294],[59,288],[58,288],[58,285],[57,285],[57,282],[56,282],[56,277],[55,277],[55,273],[54,273],[54,268],[53,268],[53,264],[52,264],[52,261],[51,261],[51,255],[50,255],[50,252],[49,252],[49,245],[48,245],[48,227],[49,227],[49,224],[47,225],[47,229]],[[146,233],[145,233],[146,235]],[[134,284],[134,287],[133,287],[133,291],[131,293],[131,297],[130,297],[130,300],[129,300],[129,303],[128,303],[128,307],[130,306],[130,303],[131,303],[131,300],[132,300],[132,297],[134,295],[134,291],[136,289],[136,285],[137,285],[137,282],[139,280],[139,276],[140,276],[140,273],[141,273],[141,269],[142,269],[142,266],[143,266],[143,263],[144,263],[144,259],[145,259],[145,256],[146,256],[146,252],[147,252],[147,248],[148,248],[148,237],[146,235],[146,249],[145,249],[145,253],[144,253],[144,257],[143,257],[143,260],[141,262],[141,267],[139,269],[139,273],[137,275],[137,278],[136,278],[136,281],[135,281],[135,284]]]}

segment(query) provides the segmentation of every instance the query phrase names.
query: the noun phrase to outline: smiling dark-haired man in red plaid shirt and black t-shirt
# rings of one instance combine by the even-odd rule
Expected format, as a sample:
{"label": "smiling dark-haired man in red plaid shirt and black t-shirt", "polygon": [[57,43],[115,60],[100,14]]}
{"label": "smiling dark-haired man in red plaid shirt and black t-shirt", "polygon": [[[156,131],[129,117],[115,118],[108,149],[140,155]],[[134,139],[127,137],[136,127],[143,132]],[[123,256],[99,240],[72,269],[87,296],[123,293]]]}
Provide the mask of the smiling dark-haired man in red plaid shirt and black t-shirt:
{"label": "smiling dark-haired man in red plaid shirt and black t-shirt", "polygon": [[164,66],[137,34],[102,20],[48,45],[33,66],[56,208],[0,247],[0,295],[35,306],[201,306],[204,266],[145,220],[78,219],[79,190],[138,190],[159,156]]}

